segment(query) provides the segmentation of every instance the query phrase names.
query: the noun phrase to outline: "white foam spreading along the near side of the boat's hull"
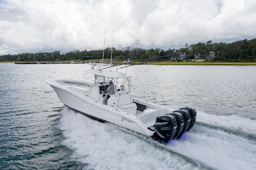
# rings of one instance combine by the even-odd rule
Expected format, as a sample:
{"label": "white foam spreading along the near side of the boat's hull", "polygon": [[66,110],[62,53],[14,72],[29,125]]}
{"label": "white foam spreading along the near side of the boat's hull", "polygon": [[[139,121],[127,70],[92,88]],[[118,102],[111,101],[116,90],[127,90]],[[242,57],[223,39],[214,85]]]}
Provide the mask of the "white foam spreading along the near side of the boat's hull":
{"label": "white foam spreading along the near side of the boat's hull", "polygon": [[103,124],[65,107],[59,128],[72,159],[85,169],[198,169],[181,156],[155,147],[135,135]]}

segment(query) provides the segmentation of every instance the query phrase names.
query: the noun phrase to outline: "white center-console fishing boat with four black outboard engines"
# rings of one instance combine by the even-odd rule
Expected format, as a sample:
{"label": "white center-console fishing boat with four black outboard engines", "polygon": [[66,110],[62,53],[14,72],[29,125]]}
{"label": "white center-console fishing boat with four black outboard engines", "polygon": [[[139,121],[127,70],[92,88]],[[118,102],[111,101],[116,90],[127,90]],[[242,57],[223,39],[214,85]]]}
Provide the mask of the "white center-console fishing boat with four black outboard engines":
{"label": "white center-console fishing boat with four black outboard engines", "polygon": [[[102,67],[108,64],[89,64],[92,69],[84,71],[93,74],[94,81],[46,80],[67,107],[100,122],[113,123],[163,141],[181,137],[193,127],[196,120],[193,108],[171,111],[165,106],[133,98],[131,80],[134,74],[106,71]],[[97,65],[97,69],[94,69],[94,65]],[[107,99],[106,90],[110,80],[115,85],[115,94]],[[122,85],[125,86],[124,90],[120,90]]]}

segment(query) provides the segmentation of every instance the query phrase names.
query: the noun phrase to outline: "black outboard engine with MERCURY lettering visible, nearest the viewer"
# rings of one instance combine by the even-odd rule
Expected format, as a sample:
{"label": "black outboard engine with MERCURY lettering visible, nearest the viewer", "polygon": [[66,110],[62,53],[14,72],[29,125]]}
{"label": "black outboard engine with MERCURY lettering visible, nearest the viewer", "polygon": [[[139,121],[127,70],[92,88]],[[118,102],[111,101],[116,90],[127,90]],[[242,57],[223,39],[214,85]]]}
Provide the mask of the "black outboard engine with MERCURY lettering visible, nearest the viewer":
{"label": "black outboard engine with MERCURY lettering visible, nearest the viewer", "polygon": [[172,115],[161,115],[156,117],[155,131],[160,139],[172,140],[177,129],[177,121]]}

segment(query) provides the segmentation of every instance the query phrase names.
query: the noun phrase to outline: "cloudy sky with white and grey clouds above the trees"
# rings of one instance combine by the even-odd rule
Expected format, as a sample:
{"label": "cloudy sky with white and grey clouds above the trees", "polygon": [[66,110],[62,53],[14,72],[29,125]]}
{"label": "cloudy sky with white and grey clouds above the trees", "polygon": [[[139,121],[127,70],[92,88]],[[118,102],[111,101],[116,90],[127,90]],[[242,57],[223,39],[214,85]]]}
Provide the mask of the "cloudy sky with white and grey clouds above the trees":
{"label": "cloudy sky with white and grey clouds above the trees", "polygon": [[256,38],[255,0],[0,0],[0,55]]}

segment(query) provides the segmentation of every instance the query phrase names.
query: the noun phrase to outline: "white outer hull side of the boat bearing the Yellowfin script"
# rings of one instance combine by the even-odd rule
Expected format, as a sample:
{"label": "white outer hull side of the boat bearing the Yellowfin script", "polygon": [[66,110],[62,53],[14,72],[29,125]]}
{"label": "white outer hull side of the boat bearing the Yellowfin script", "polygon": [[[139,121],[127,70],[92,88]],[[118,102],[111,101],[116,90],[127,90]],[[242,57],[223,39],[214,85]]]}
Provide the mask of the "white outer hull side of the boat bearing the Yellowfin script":
{"label": "white outer hull side of the boat bearing the Yellowfin script", "polygon": [[154,131],[148,130],[135,115],[101,104],[90,96],[81,95],[53,82],[46,81],[46,83],[55,90],[61,102],[74,111],[100,122],[110,122],[146,136],[153,136],[154,134]]}

